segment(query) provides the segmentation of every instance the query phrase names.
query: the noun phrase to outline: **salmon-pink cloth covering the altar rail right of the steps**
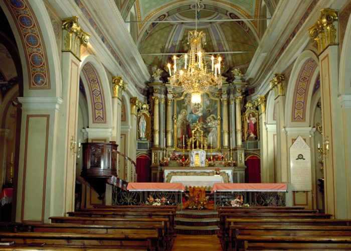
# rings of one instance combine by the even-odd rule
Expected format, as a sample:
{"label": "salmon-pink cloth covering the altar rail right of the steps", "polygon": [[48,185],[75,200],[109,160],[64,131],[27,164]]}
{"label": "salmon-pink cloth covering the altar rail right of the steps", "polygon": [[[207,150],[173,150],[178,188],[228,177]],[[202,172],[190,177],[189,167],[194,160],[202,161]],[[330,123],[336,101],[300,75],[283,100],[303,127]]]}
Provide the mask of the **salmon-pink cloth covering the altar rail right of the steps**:
{"label": "salmon-pink cloth covering the altar rail right of the steps", "polygon": [[212,186],[214,192],[286,192],[286,183],[216,183]]}

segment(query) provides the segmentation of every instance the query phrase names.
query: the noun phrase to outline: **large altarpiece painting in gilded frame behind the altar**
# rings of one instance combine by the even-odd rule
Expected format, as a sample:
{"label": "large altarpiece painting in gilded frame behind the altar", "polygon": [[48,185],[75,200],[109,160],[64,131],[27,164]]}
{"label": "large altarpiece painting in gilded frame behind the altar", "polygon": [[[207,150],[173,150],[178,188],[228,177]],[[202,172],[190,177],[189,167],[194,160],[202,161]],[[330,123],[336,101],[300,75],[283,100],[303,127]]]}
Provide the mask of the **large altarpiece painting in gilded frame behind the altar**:
{"label": "large altarpiece painting in gilded frame behind the altar", "polygon": [[[183,135],[184,133],[180,133],[180,124],[182,119],[181,112],[184,113],[186,110],[186,120],[189,122],[189,129],[187,130],[188,138],[185,137],[185,149],[188,149],[187,139],[191,138],[189,131],[193,131],[195,129],[195,124],[197,122],[201,122],[203,124],[202,130],[204,131],[204,137],[208,138],[211,133],[211,138],[213,138],[211,142],[211,138],[208,139],[207,148],[210,149],[211,143],[213,143],[213,151],[221,150],[221,105],[220,98],[214,96],[211,92],[206,92],[201,96],[201,107],[202,114],[199,109],[195,111],[196,106],[199,108],[199,103],[191,103],[191,94],[190,93],[174,93],[174,106],[173,106],[173,125],[174,125],[174,133],[173,133],[173,142],[174,142],[174,150],[175,151],[183,151]],[[196,114],[197,113],[197,114]],[[211,118],[209,118],[211,117]],[[196,120],[195,120],[196,119]],[[187,123],[187,121],[185,121]],[[184,124],[183,123],[183,127]],[[210,126],[211,124],[211,126]],[[214,146],[216,143],[216,146]]]}

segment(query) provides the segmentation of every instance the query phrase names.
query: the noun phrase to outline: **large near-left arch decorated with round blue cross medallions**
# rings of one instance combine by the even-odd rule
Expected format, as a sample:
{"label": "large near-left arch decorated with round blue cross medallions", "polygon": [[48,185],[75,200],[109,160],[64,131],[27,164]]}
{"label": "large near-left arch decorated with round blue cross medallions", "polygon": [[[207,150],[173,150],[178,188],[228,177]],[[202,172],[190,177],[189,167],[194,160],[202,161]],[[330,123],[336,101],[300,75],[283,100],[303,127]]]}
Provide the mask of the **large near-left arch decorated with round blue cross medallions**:
{"label": "large near-left arch decorated with round blue cross medallions", "polygon": [[18,0],[4,1],[4,5],[21,57],[23,82],[28,83],[24,96],[32,96],[33,90],[49,90],[45,96],[61,96],[60,59],[44,3]]}

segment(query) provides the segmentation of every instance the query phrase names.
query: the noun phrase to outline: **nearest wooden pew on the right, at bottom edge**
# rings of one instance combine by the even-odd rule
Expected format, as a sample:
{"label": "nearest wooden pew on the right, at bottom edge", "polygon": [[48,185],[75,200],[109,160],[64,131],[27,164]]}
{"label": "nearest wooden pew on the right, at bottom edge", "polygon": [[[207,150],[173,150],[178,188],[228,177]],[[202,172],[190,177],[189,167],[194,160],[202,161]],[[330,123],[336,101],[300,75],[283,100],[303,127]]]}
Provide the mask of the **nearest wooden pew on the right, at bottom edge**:
{"label": "nearest wooden pew on the right, at bottom edge", "polygon": [[238,235],[243,250],[351,250],[351,236]]}

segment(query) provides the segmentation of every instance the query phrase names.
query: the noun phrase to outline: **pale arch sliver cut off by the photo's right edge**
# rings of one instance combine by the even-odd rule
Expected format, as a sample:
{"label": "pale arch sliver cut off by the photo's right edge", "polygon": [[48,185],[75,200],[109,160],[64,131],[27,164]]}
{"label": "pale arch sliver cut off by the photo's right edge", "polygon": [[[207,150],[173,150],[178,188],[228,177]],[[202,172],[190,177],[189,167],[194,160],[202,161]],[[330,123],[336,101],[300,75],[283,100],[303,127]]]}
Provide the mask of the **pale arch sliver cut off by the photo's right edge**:
{"label": "pale arch sliver cut off by the photo's right edge", "polygon": [[342,42],[339,66],[339,93],[351,94],[351,16],[348,18]]}

